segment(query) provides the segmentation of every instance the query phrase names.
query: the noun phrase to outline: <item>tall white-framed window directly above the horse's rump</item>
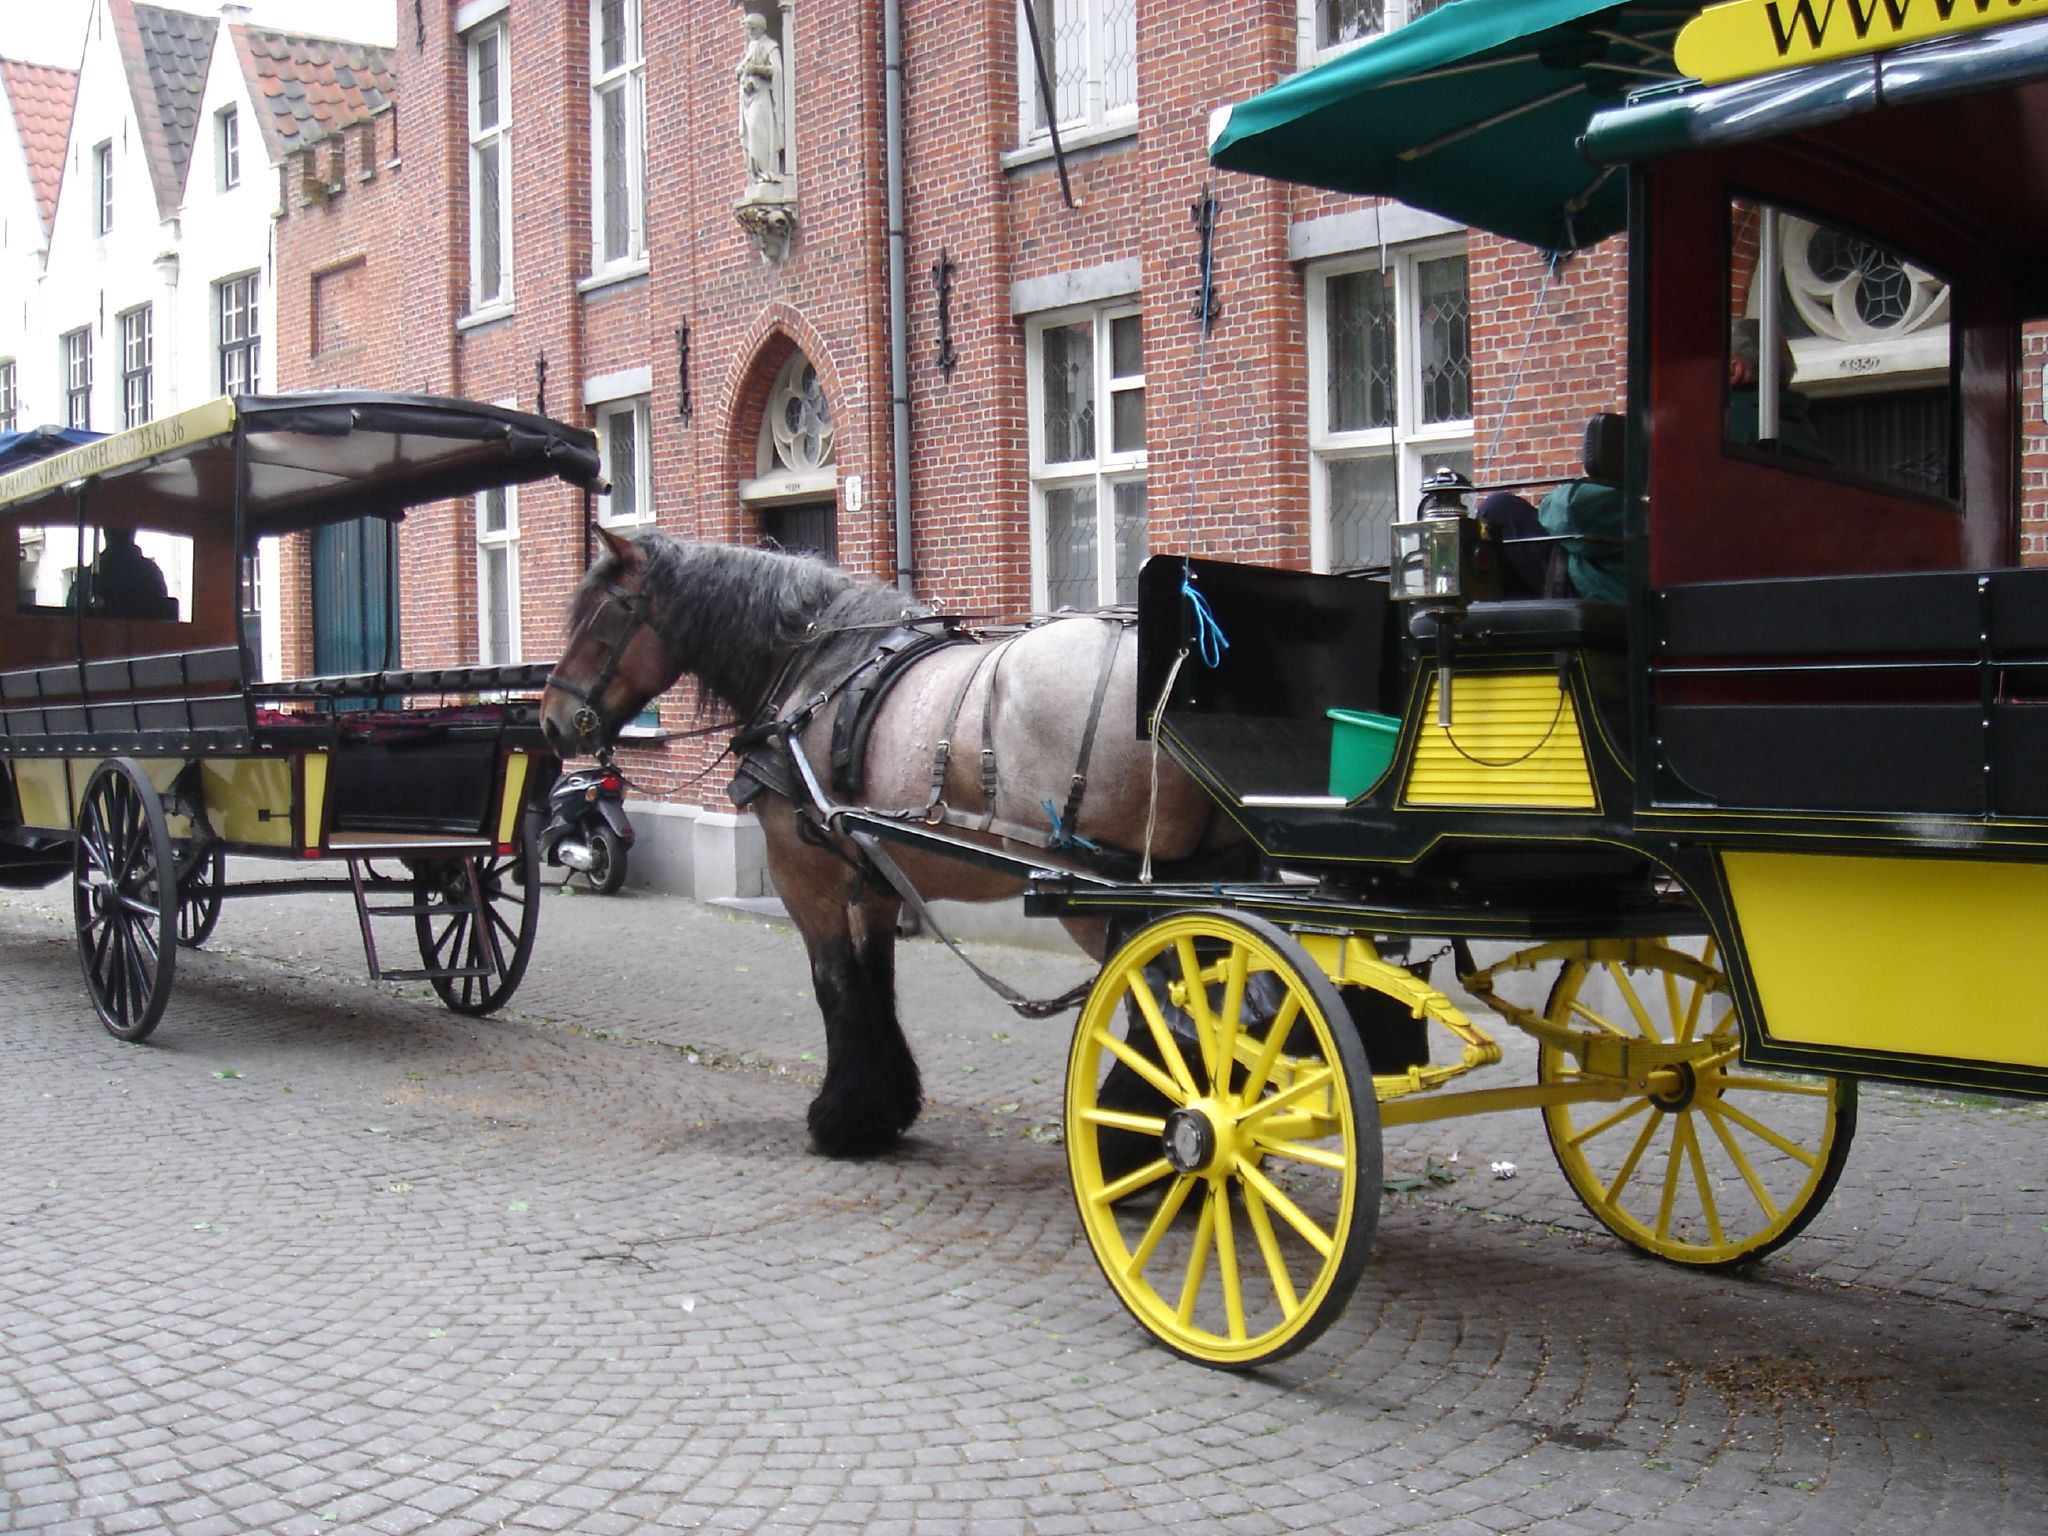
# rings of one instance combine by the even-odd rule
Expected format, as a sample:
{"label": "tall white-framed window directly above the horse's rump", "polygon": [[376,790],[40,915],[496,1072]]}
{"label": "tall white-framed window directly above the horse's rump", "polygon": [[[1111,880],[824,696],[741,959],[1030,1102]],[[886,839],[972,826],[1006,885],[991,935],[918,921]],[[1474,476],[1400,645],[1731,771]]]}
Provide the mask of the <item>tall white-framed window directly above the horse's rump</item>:
{"label": "tall white-framed window directly above the horse's rump", "polygon": [[1145,322],[1096,309],[1028,336],[1032,602],[1137,598],[1145,561]]}

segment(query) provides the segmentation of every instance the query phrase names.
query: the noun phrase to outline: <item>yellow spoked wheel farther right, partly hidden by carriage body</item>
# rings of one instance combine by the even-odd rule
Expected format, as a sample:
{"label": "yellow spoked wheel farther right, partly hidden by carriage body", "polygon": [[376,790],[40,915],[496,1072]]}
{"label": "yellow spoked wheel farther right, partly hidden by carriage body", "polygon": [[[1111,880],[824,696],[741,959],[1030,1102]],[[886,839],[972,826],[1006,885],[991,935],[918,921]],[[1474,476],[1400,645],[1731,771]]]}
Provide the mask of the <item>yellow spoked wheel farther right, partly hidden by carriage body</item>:
{"label": "yellow spoked wheel farther right, partly hidden by carriage body", "polygon": [[[1544,1110],[1559,1167],[1616,1237],[1673,1264],[1729,1268],[1792,1241],[1827,1204],[1855,1135],[1855,1081],[1745,1067],[1712,942],[1702,954],[1595,946],[1567,961],[1546,1016],[1593,1036],[1694,1047],[1671,1053],[1649,1092]],[[1597,1081],[1559,1047],[1542,1049],[1536,1075]]]}

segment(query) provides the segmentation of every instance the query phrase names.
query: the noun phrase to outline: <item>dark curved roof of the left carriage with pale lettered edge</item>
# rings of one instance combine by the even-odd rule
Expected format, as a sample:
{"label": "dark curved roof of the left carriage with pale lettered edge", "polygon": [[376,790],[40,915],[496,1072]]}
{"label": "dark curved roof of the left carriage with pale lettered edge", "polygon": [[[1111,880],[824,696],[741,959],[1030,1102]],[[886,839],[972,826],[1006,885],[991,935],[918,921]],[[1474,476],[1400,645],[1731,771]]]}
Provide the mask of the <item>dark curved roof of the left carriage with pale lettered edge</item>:
{"label": "dark curved roof of the left carriage with pale lettered edge", "polygon": [[236,438],[248,461],[244,537],[297,532],[358,516],[559,477],[602,485],[596,436],[545,416],[440,395],[324,391],[215,399],[115,432],[0,477],[0,516],[70,516],[84,481],[92,516],[147,524],[236,506]]}

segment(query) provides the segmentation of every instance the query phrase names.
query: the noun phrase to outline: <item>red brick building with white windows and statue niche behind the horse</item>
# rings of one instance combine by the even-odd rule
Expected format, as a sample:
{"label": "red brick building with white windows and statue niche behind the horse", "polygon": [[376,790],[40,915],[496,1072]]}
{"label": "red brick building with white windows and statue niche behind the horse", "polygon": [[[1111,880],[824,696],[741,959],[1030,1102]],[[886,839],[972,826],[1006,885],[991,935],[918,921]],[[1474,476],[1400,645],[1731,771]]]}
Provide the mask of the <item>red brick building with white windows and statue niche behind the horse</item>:
{"label": "red brick building with white windows and statue niche behind the horse", "polygon": [[[823,549],[973,618],[1126,598],[1147,549],[1382,559],[1430,469],[1571,475],[1624,389],[1620,242],[1552,260],[1208,166],[1214,109],[1427,8],[399,4],[395,113],[287,176],[279,383],[590,424],[596,522]],[[410,664],[549,657],[586,510],[528,487],[399,547]],[[678,690],[625,754],[645,868],[750,893],[696,723]]]}

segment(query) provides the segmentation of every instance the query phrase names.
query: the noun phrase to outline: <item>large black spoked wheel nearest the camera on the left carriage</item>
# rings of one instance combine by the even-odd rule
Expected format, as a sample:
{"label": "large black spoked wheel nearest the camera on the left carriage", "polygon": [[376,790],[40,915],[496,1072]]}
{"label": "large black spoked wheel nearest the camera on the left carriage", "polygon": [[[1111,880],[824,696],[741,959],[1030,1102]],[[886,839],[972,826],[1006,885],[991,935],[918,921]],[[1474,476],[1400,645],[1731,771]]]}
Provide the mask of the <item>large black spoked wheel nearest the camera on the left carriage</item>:
{"label": "large black spoked wheel nearest the camera on the left carriage", "polygon": [[102,762],[86,782],[72,842],[78,961],[100,1024],[145,1040],[176,973],[176,864],[164,801],[131,758]]}

